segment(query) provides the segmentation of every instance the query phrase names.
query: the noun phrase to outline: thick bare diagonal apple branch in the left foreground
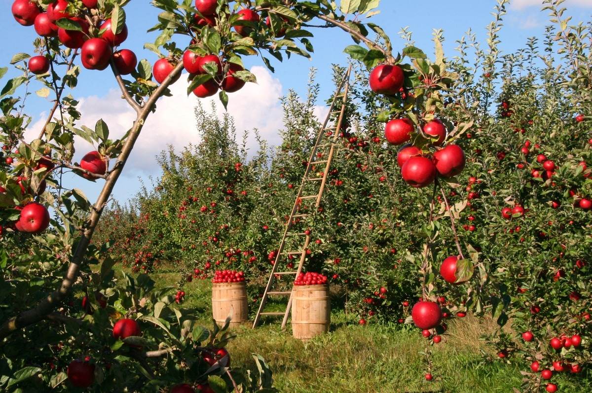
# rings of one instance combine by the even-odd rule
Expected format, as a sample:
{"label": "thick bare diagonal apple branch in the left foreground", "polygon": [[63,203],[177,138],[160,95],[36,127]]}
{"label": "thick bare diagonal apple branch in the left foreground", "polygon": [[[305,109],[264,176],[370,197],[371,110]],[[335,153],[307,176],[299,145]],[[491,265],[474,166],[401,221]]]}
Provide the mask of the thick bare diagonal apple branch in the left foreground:
{"label": "thick bare diagonal apple branch in the left foreground", "polygon": [[107,201],[111,196],[111,192],[113,191],[115,183],[121,175],[121,171],[123,170],[123,167],[130,156],[131,150],[133,149],[137,138],[140,136],[140,131],[144,126],[146,118],[152,111],[157,99],[159,99],[160,96],[165,93],[170,83],[172,83],[173,79],[181,72],[182,69],[183,63],[176,65],[170,75],[165,80],[163,80],[162,84],[153,92],[146,102],[146,105],[144,105],[143,109],[137,114],[136,121],[134,121],[134,125],[131,128],[126,143],[124,144],[123,149],[121,149],[120,155],[117,157],[114,168],[107,176],[107,181],[105,181],[105,185],[103,186],[101,194],[99,194],[99,197],[96,199],[94,208],[92,209],[92,212],[86,221],[85,230],[78,241],[78,245],[76,246],[76,250],[72,256],[72,259],[70,260],[70,265],[68,266],[68,269],[62,279],[62,284],[60,287],[57,288],[52,294],[48,295],[47,298],[43,299],[43,301],[37,304],[36,307],[27,311],[23,311],[22,313],[10,318],[8,321],[2,324],[0,327],[0,339],[4,339],[15,330],[43,320],[43,318],[45,318],[46,315],[52,313],[57,305],[60,304],[67,294],[69,294],[70,289],[72,289],[73,284],[76,282],[76,279],[78,279],[78,273],[86,254],[86,248],[91,241],[96,224],[98,224],[99,218],[101,218],[102,211],[105,208],[105,205],[107,205]]}

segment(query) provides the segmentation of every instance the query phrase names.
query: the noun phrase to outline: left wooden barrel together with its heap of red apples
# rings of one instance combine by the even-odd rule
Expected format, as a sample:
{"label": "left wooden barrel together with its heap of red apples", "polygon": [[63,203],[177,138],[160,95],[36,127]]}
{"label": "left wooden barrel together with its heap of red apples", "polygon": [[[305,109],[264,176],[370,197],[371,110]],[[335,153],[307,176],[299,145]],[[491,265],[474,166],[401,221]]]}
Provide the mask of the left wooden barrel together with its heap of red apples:
{"label": "left wooden barrel together with its heap of red apples", "polygon": [[215,272],[212,279],[212,314],[220,326],[229,315],[230,327],[242,325],[249,319],[247,288],[243,272],[236,270]]}

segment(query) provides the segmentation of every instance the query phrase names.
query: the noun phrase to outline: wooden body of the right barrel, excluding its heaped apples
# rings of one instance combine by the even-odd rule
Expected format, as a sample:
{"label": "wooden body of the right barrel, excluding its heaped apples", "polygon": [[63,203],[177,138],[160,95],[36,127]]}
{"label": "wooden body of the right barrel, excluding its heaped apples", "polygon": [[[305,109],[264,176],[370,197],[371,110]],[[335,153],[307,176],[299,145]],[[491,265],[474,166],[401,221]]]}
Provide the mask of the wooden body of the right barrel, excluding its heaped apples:
{"label": "wooden body of the right barrel, excluding its heaped apples", "polygon": [[296,285],[292,294],[292,336],[312,339],[329,331],[331,301],[329,284]]}

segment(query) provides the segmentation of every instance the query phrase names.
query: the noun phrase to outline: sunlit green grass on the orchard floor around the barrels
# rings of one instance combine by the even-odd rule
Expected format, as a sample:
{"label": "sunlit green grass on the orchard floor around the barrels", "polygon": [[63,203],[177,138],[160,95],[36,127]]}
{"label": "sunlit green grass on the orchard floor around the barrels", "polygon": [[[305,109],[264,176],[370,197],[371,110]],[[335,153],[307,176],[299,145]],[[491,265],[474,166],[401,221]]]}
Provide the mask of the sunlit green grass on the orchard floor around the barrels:
{"label": "sunlit green grass on the orchard floor around the barrels", "polygon": [[[152,278],[165,285],[178,281],[179,275],[156,273]],[[200,311],[204,326],[210,325],[211,284],[193,281],[184,291],[183,306]],[[430,347],[434,381],[427,382],[427,340],[416,328],[359,326],[355,317],[333,311],[332,331],[308,342],[292,338],[289,327],[281,331],[280,321],[255,330],[238,327],[228,347],[232,362],[251,364],[251,353],[258,353],[271,366],[275,387],[287,393],[511,392],[521,384],[519,367],[497,359],[479,339],[495,328],[491,320],[467,315],[449,321],[442,343]],[[561,391],[582,391],[571,384],[566,381]]]}

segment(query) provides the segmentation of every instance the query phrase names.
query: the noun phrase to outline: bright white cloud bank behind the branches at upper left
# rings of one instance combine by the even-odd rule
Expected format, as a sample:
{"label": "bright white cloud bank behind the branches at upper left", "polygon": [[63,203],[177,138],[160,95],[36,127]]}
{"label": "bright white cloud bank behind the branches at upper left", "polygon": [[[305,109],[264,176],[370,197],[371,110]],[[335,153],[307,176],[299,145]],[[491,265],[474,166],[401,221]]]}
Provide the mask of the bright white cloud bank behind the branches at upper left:
{"label": "bright white cloud bank behind the branches at upper left", "polygon": [[[278,130],[282,127],[279,98],[282,95],[282,85],[264,67],[253,66],[251,72],[257,77],[258,83],[247,83],[240,91],[229,94],[228,112],[234,118],[239,137],[243,130],[258,128],[269,144],[279,144]],[[180,150],[189,143],[199,143],[194,108],[200,99],[193,94],[187,96],[185,80],[186,75],[182,75],[170,88],[172,96],[162,97],[156,103],[157,110],[149,115],[124,172],[129,173],[131,170],[153,174],[157,170],[154,157],[166,145],[172,144],[176,150]],[[224,108],[217,96],[201,99],[202,105],[209,110],[212,100],[217,102],[218,114],[223,114]],[[111,138],[123,136],[135,118],[135,112],[121,98],[118,89],[111,89],[104,96],[80,99],[79,110],[82,114],[79,125],[85,124],[92,128],[102,118],[109,127]],[[29,128],[25,137],[28,140],[36,137],[43,123],[44,117],[41,114],[40,120]],[[93,149],[88,142],[78,137],[75,146],[76,160]],[[250,138],[249,146],[256,147],[254,138]]]}

